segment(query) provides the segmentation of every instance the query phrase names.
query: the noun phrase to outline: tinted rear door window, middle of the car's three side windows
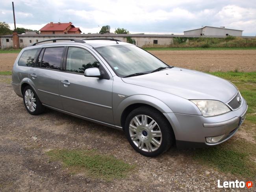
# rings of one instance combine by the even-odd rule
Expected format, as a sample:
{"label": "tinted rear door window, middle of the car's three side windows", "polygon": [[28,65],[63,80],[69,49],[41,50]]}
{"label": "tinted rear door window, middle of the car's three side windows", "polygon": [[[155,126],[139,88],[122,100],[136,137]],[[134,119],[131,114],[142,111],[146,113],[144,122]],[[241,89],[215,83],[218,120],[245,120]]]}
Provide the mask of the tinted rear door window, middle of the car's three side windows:
{"label": "tinted rear door window, middle of the car's three side windows", "polygon": [[60,69],[64,47],[45,48],[41,67]]}

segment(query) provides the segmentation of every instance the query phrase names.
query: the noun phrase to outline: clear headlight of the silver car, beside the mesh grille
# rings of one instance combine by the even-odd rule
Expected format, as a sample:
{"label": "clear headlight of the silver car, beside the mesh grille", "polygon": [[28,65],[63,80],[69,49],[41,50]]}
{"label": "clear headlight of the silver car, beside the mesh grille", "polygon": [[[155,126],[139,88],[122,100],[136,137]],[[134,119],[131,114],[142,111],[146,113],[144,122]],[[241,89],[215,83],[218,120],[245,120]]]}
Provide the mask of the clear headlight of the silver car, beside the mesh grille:
{"label": "clear headlight of the silver car, beside the mesh grille", "polygon": [[191,100],[195,103],[204,117],[216,116],[230,111],[228,106],[215,100]]}

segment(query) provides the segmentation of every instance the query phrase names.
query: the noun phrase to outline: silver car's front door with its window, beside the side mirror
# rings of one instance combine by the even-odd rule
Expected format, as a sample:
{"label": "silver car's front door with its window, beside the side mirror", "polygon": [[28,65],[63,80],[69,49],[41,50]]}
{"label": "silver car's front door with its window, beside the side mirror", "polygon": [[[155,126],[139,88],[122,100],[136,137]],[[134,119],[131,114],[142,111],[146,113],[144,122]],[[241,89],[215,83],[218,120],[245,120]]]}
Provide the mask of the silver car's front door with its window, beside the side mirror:
{"label": "silver car's front door with its window, beside the side mirror", "polygon": [[88,50],[69,47],[66,66],[63,69],[65,72],[60,72],[60,96],[63,110],[113,124],[113,80],[85,77],[85,69],[91,67],[104,70],[100,62]]}

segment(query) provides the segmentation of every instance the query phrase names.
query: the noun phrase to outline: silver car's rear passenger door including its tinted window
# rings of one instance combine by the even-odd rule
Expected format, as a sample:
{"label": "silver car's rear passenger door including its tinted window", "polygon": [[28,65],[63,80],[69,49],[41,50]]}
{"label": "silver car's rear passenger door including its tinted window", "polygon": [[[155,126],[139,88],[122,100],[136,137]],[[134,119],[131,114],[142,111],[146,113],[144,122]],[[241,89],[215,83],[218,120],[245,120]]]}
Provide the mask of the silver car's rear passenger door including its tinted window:
{"label": "silver car's rear passenger door including its tinted window", "polygon": [[41,102],[57,109],[62,109],[59,70],[62,68],[64,52],[64,46],[43,48],[29,74]]}

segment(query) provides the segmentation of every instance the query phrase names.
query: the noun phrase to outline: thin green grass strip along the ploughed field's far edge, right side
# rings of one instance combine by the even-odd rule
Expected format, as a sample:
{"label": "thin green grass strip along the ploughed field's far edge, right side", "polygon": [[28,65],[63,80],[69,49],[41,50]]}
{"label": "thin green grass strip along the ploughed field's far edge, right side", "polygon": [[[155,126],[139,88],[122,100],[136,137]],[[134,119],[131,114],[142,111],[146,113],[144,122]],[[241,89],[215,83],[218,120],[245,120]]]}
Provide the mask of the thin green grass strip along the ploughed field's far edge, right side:
{"label": "thin green grass strip along the ploughed field's far edge, right side", "polygon": [[156,47],[156,48],[143,48],[147,51],[175,51],[175,50],[256,50],[256,47]]}

